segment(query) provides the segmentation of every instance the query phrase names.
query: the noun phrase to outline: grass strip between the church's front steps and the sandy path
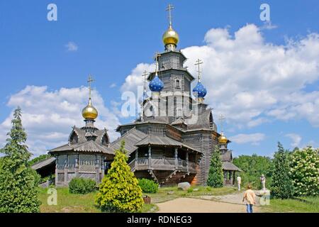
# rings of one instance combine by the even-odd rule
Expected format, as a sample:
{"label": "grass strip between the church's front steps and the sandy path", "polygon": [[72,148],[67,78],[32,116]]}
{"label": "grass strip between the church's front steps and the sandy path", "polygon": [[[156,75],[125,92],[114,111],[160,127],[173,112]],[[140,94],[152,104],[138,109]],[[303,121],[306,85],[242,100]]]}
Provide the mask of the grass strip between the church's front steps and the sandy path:
{"label": "grass strip between the church's front steps and the sandy path", "polygon": [[[150,196],[152,199],[152,203],[158,204],[165,201],[169,201],[172,199],[177,199],[180,197],[194,197],[194,196],[203,196],[203,195],[210,195],[210,196],[218,196],[223,194],[232,194],[237,192],[237,190],[233,187],[222,187],[222,188],[211,188],[211,187],[191,187],[189,192],[181,191],[177,189],[177,187],[162,187],[159,189],[159,192],[156,194],[146,194]],[[194,189],[198,189],[198,191],[194,191]]]}

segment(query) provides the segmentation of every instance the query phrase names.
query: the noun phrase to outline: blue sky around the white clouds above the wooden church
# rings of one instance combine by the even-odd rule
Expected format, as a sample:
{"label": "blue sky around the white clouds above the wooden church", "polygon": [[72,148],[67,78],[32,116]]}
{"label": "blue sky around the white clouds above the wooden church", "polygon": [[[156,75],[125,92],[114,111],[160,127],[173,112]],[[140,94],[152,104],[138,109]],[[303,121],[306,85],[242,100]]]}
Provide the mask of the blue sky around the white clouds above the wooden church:
{"label": "blue sky around the white clouds above the wooden church", "polygon": [[[50,3],[57,4],[57,21],[47,21],[47,5]],[[9,118],[14,104],[17,103],[13,101],[9,104],[12,96],[21,92],[28,85],[46,86],[46,92],[54,93],[61,88],[72,89],[86,86],[88,74],[93,74],[96,79],[94,89],[103,99],[101,105],[114,114],[112,103],[121,102],[123,92],[121,86],[125,84],[125,78],[133,74],[138,64],[152,63],[154,52],[163,50],[161,37],[167,28],[167,13],[164,9],[169,3],[175,7],[173,23],[180,36],[179,48],[181,49],[191,50],[190,47],[206,45],[208,41],[205,35],[211,28],[227,28],[230,35],[234,35],[247,24],[262,28],[264,22],[259,19],[261,12],[259,6],[262,3],[267,3],[271,7],[271,21],[272,25],[276,27],[260,29],[259,33],[264,43],[281,47],[286,45],[287,39],[298,42],[306,39],[310,33],[319,32],[319,3],[315,0],[1,1],[0,123],[3,125],[1,138],[5,137],[4,131],[8,128],[7,125],[5,126],[5,121]],[[77,50],[67,50],[66,45],[70,42],[77,46]],[[305,54],[302,54],[296,58],[304,56]],[[304,82],[302,88],[299,89],[304,92],[303,98],[307,99],[306,94],[319,90],[319,75],[317,74],[319,60],[318,55],[314,56],[311,53],[304,60],[317,64],[315,70],[309,73],[312,74],[311,79]],[[287,74],[287,77],[289,75]],[[113,84],[112,87],[110,87],[111,84]],[[213,94],[214,85],[212,86],[211,90],[208,86],[208,92],[211,94]],[[218,84],[218,86],[223,86],[223,84]],[[249,89],[245,87],[245,91],[249,92]],[[313,104],[316,104],[318,98],[313,96]],[[209,96],[209,99],[218,99],[218,96]],[[214,104],[208,99],[207,102]],[[218,102],[216,106],[212,107],[218,112],[217,108],[220,105]],[[285,108],[287,105],[289,104],[286,102]],[[284,107],[281,106],[279,109],[281,108]],[[287,107],[286,111],[298,112],[298,108],[307,107],[294,105],[293,108]],[[28,111],[28,106],[26,109]],[[318,111],[310,113],[313,114],[311,116],[310,114],[295,114],[296,116],[283,120],[283,116],[269,116],[271,109],[273,108],[270,106],[255,117],[267,121],[254,127],[245,126],[245,123],[242,123],[245,118],[240,119],[240,126],[237,126],[236,117],[232,116],[236,113],[226,114],[229,120],[226,122],[225,131],[229,137],[238,138],[237,135],[240,134],[256,134],[256,137],[260,137],[260,140],[245,143],[239,140],[237,140],[238,143],[233,141],[230,148],[235,151],[235,155],[252,153],[271,155],[276,150],[278,140],[284,143],[286,148],[292,148],[291,135],[295,135],[294,138],[296,135],[301,137],[298,142],[300,146],[306,144],[319,146],[318,125],[315,120],[311,121],[318,116]],[[52,111],[55,110],[52,109]],[[80,112],[81,109],[79,109],[77,118],[80,118]],[[105,121],[110,126],[107,114],[101,117],[103,122]],[[217,120],[218,116],[215,118]],[[118,118],[121,123],[131,120],[132,118]],[[70,122],[68,127],[72,126],[72,123]],[[28,127],[26,128],[28,130]],[[113,131],[113,128],[108,129]],[[59,132],[63,134],[67,133],[67,130],[69,129],[65,128]],[[30,131],[32,131],[31,139],[40,140],[32,138],[32,134],[43,133],[45,129],[30,128]],[[51,133],[52,131],[55,131],[55,128],[50,129]],[[67,138],[64,140],[66,141]],[[47,146],[34,149],[44,150],[44,147],[49,149],[50,145],[61,143],[61,141],[62,138],[55,140],[54,143],[48,141]],[[36,146],[35,142],[30,145],[30,148],[33,149],[33,146]]]}

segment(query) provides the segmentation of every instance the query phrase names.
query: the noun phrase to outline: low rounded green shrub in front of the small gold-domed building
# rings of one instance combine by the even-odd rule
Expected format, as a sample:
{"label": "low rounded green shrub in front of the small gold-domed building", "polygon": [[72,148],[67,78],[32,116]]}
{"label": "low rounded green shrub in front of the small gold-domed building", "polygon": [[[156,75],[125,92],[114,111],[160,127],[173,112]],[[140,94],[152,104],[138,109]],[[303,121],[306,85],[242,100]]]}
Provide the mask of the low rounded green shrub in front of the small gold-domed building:
{"label": "low rounded green shrub in front of the small gold-domed building", "polygon": [[96,191],[96,182],[93,179],[75,177],[69,182],[69,193],[88,194]]}

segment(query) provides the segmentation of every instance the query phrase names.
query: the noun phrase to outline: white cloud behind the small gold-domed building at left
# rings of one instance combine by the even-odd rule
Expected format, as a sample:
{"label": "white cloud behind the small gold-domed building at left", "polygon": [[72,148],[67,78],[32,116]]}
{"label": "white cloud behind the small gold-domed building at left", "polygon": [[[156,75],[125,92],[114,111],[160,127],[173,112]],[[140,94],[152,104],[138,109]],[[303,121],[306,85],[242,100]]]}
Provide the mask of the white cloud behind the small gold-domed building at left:
{"label": "white cloud behind the small gold-domed building at left", "polygon": [[[28,133],[28,146],[35,155],[46,153],[48,149],[67,143],[72,126],[84,126],[82,109],[87,104],[86,87],[61,88],[50,91],[47,87],[27,86],[13,94],[8,106],[21,106],[23,126]],[[118,137],[114,131],[120,124],[118,117],[106,108],[99,92],[92,92],[94,106],[99,111],[97,128],[107,128],[111,139]],[[11,128],[11,116],[0,124],[1,135]],[[5,138],[1,138],[0,144]]]}

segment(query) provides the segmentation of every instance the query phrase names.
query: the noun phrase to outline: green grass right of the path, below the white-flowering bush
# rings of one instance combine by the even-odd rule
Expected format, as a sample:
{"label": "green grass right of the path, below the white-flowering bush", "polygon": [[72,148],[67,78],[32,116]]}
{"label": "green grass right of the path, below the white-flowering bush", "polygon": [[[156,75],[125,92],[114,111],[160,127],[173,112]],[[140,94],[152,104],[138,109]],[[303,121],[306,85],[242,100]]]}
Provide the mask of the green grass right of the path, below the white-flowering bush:
{"label": "green grass right of the path, below the white-flowering bush", "polygon": [[301,197],[298,199],[271,199],[270,205],[262,206],[262,210],[276,213],[319,213],[319,197]]}

